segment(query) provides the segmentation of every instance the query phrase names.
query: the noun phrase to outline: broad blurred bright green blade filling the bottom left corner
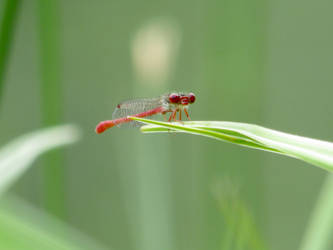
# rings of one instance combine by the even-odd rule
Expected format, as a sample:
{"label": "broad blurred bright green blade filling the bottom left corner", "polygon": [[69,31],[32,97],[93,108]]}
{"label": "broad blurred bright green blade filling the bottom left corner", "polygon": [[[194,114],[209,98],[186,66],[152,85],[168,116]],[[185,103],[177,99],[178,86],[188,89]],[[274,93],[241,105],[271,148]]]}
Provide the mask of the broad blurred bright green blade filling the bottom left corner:
{"label": "broad blurred bright green blade filling the bottom left corner", "polygon": [[12,195],[1,199],[0,242],[1,249],[110,249]]}

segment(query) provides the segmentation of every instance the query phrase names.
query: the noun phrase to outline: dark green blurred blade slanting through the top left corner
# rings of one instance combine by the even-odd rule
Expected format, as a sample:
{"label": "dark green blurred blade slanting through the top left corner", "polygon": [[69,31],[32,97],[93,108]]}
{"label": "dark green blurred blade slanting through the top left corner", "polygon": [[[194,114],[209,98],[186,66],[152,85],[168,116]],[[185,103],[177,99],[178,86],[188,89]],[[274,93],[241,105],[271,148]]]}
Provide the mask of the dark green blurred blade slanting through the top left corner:
{"label": "dark green blurred blade slanting through the top left corner", "polygon": [[0,24],[0,100],[5,80],[6,64],[8,63],[20,3],[20,0],[7,0],[4,3],[4,13]]}

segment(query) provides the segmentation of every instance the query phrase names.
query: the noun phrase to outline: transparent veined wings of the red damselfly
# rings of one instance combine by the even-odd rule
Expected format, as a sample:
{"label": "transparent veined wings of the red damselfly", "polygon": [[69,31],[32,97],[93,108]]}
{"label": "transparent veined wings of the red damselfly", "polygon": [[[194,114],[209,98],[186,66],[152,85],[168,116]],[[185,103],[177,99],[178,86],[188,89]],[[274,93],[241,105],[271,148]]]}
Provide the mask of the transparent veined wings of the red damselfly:
{"label": "transparent veined wings of the red damselfly", "polygon": [[[163,100],[161,98],[153,99],[137,99],[125,101],[117,105],[112,114],[112,119],[127,117],[131,115],[136,115],[148,110],[155,109],[163,105]],[[137,121],[128,122],[118,125],[119,127],[140,127],[143,124]]]}

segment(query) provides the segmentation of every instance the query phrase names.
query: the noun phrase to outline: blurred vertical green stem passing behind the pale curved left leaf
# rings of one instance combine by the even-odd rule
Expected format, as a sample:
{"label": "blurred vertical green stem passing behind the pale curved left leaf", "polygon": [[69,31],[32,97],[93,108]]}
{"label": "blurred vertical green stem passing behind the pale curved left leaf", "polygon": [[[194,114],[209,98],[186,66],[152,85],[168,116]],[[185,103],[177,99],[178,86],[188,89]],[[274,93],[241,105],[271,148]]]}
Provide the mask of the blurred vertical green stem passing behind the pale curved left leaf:
{"label": "blurred vertical green stem passing behind the pale curved left leaf", "polygon": [[[62,95],[60,70],[59,1],[38,1],[41,100],[43,125],[62,121]],[[64,159],[61,151],[52,152],[44,159],[44,205],[50,212],[65,217]]]}

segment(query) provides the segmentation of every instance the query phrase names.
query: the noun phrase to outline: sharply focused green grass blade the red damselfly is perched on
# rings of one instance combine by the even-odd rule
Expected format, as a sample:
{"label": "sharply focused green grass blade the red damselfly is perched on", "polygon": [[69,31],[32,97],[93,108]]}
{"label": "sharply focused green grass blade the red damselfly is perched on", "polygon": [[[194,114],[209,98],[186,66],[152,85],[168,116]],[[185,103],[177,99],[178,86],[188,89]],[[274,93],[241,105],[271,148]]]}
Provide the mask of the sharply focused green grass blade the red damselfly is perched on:
{"label": "sharply focused green grass blade the red damselfly is perched on", "polygon": [[238,122],[191,121],[166,123],[138,117],[131,117],[131,119],[152,124],[141,127],[141,131],[144,133],[168,132],[171,130],[202,135],[241,146],[287,155],[327,171],[333,171],[333,143],[330,142]]}

